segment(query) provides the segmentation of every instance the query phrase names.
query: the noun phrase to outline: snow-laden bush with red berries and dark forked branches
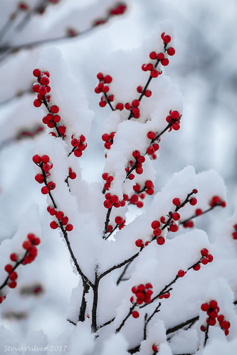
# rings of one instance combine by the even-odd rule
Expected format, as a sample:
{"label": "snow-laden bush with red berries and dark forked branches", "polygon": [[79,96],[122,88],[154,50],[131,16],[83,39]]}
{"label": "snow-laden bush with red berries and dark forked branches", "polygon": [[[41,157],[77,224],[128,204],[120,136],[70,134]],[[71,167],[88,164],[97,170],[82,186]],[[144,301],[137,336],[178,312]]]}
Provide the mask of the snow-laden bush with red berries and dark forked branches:
{"label": "snow-laden bush with red berries and dark forked branches", "polygon": [[[28,11],[23,3],[19,9]],[[107,14],[124,11],[123,4],[113,4]],[[108,19],[97,18],[97,25]],[[21,38],[7,33],[10,45],[3,46],[3,58],[22,46]],[[73,27],[67,33],[78,36],[80,31]],[[97,112],[90,109],[83,85],[58,49],[38,54],[31,70],[30,110],[41,116],[42,124],[36,129],[41,134],[31,154],[31,179],[44,200],[40,198],[39,208],[28,206],[18,230],[0,248],[2,315],[26,319],[22,309],[27,309],[34,312],[36,325],[26,343],[4,324],[2,353],[235,354],[236,211],[214,240],[195,228],[196,219],[226,207],[225,184],[214,170],[196,173],[185,166],[156,189],[154,161],[165,135],[174,137],[170,164],[179,159],[175,139],[182,129],[182,97],[179,86],[165,75],[174,54],[174,31],[164,21],[140,48],[107,55],[99,73],[91,68],[98,110],[107,117],[102,137],[96,137],[104,145],[105,162],[95,183],[83,178],[82,161]],[[43,297],[50,307],[60,298],[63,268],[60,258],[55,270],[38,259],[42,250],[57,260],[59,238],[78,285],[70,290],[67,312],[58,315],[65,324],[55,340],[41,330],[47,320],[37,324],[36,316],[40,319]],[[36,276],[51,272],[56,289],[48,299],[43,280],[36,282]]]}

